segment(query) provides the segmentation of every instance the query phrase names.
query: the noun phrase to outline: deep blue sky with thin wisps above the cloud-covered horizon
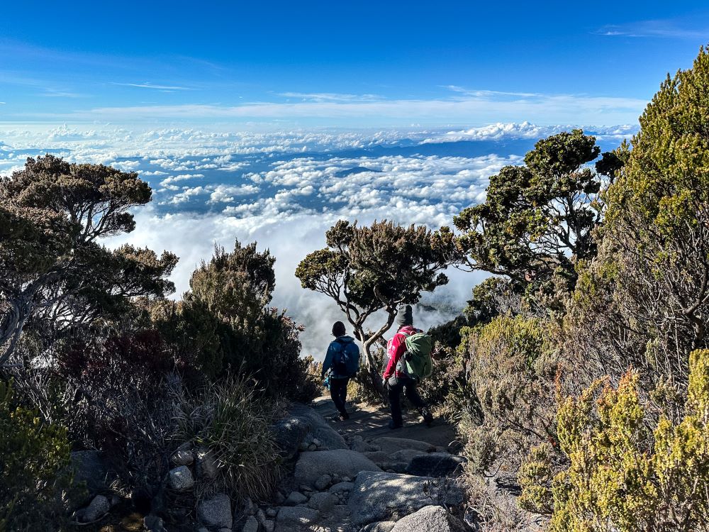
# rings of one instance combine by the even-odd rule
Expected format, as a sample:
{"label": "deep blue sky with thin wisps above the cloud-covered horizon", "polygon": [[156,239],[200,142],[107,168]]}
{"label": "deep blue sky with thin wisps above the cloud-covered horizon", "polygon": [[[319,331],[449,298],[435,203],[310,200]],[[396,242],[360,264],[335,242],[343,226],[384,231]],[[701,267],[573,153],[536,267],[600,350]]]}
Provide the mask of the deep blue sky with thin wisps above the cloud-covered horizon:
{"label": "deep blue sky with thin wisps above the cloud-covered horizon", "polygon": [[6,3],[0,121],[635,123],[706,2]]}

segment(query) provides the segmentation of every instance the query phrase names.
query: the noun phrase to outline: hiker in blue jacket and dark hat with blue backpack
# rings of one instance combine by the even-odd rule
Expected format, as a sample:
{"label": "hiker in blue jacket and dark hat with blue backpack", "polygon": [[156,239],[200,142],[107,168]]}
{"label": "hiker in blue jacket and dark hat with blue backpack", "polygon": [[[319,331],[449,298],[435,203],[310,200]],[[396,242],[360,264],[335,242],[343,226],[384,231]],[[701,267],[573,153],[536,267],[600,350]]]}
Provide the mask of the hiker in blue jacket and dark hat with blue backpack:
{"label": "hiker in blue jacket and dark hat with blue backpack", "polygon": [[330,342],[328,354],[323,362],[323,378],[330,371],[330,397],[337,411],[340,412],[340,420],[350,419],[350,414],[345,410],[347,401],[347,384],[350,378],[354,377],[359,367],[359,348],[354,343],[354,338],[347,336],[345,323],[335,321],[333,325],[333,336],[335,340]]}

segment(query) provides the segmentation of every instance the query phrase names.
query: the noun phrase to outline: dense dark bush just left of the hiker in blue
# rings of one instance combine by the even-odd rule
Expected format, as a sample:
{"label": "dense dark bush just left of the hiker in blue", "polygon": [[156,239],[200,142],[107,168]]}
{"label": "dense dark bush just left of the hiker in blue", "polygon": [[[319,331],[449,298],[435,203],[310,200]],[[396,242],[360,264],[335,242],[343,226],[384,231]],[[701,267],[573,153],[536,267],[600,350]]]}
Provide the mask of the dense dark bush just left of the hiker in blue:
{"label": "dense dark bush just left of the hiker in blue", "polygon": [[230,253],[216,248],[193,273],[192,291],[159,328],[208,377],[250,375],[272,397],[310,400],[303,394],[302,328],[267,308],[275,287],[274,262],[269,251],[256,250],[256,243],[237,241]]}

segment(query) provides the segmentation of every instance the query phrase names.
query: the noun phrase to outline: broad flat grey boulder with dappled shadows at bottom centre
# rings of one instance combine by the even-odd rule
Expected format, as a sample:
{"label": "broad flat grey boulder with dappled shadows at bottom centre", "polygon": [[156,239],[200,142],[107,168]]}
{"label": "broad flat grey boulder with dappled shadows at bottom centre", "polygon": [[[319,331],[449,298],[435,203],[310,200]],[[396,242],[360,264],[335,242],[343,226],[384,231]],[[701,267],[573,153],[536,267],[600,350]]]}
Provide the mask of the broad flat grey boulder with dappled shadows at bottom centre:
{"label": "broad flat grey boulder with dappled shadows at bottom centre", "polygon": [[[350,493],[348,504],[352,521],[364,526],[374,521],[396,521],[412,514],[432,504],[433,499],[426,492],[435,492],[435,482],[431,477],[362,471]],[[462,489],[455,485],[447,487],[446,504],[462,504],[463,499]]]}

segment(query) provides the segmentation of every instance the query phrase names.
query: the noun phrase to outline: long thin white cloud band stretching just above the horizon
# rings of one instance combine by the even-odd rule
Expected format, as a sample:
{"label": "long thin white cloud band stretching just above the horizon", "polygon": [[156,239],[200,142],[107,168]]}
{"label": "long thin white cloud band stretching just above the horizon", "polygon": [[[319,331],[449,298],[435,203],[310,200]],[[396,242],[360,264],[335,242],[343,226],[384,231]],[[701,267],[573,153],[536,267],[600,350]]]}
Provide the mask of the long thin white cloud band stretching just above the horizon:
{"label": "long thin white cloud band stretching just above the horizon", "polygon": [[[647,104],[643,99],[584,94],[498,94],[484,91],[448,99],[393,99],[381,101],[252,102],[237,106],[217,104],[100,107],[52,118],[91,120],[342,120],[376,118],[384,123],[491,123],[523,118],[547,123],[631,123]],[[47,115],[43,115],[47,118]]]}

